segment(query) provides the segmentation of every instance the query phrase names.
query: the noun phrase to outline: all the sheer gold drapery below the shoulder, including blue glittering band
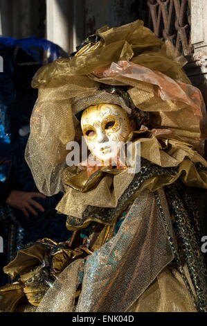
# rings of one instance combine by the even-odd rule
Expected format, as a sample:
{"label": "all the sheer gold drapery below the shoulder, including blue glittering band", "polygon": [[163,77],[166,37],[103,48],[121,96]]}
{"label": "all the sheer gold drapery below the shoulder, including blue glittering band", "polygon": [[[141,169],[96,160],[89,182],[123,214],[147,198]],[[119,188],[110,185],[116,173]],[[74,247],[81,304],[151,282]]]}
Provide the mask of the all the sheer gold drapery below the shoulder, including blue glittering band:
{"label": "all the sheer gold drapery below the shoulder, including blue glittering band", "polygon": [[[37,311],[196,311],[181,274],[170,264],[174,255],[164,223],[172,234],[173,246],[177,247],[177,242],[163,189],[159,198],[165,221],[154,194],[143,191],[118,234],[87,261],[78,259],[65,268]],[[76,305],[82,271],[82,291]]]}

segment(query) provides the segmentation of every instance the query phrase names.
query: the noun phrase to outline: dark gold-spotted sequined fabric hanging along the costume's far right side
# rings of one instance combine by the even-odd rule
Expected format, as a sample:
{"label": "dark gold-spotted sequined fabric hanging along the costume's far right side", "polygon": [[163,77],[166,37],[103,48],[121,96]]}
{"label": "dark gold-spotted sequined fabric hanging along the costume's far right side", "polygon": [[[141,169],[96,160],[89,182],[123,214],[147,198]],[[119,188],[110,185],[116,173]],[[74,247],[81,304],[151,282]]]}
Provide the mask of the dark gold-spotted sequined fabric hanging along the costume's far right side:
{"label": "dark gold-spotted sequined fabric hanging along the costume's far right side", "polygon": [[[171,203],[171,212],[174,217],[174,230],[179,239],[179,251],[176,260],[181,274],[184,275],[182,260],[186,261],[190,279],[196,292],[195,303],[199,311],[207,311],[207,280],[206,266],[200,248],[201,230],[197,207],[192,198],[188,196],[181,182],[175,182],[165,188]],[[184,277],[186,286],[190,284]]]}

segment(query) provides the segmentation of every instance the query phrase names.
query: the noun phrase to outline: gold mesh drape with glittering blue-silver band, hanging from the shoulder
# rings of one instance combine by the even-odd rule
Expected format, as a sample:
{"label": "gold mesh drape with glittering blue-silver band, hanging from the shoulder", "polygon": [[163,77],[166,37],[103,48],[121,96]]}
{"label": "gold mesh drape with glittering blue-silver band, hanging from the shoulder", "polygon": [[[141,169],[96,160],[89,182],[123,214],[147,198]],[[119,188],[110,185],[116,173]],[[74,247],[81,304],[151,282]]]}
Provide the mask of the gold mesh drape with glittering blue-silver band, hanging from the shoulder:
{"label": "gold mesh drape with glittering blue-silver band, hanging from the shoulder", "polygon": [[116,236],[87,259],[76,311],[126,311],[173,258],[154,194],[143,191]]}

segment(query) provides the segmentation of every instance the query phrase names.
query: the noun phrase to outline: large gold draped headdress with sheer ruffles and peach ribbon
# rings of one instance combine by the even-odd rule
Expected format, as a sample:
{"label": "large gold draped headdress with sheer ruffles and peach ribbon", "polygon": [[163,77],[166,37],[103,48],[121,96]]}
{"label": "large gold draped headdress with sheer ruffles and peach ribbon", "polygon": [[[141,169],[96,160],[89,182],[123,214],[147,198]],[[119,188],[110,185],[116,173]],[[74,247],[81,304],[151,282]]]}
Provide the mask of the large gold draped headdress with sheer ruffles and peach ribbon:
{"label": "large gold draped headdress with sheer ruffles and peach ribbon", "polygon": [[118,104],[130,113],[123,97],[101,89],[102,84],[127,87],[134,105],[150,112],[151,130],[139,139],[145,159],[177,166],[187,156],[206,164],[195,152],[206,137],[204,101],[182,70],[185,60],[139,20],[96,34],[98,40],[89,38],[72,58],[55,60],[33,78],[39,97],[26,160],[39,191],[51,196],[62,189],[66,144],[81,134],[75,114],[97,103]]}

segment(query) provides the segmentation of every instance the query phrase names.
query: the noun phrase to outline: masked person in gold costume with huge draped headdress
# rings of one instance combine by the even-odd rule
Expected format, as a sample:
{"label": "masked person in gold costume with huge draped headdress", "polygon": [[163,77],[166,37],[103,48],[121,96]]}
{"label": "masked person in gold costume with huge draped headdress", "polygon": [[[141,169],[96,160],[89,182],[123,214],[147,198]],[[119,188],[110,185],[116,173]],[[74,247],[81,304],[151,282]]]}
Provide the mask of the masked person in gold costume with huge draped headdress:
{"label": "masked person in gold costume with huge draped headdress", "polygon": [[[207,311],[188,191],[207,187],[206,111],[184,63],[136,21],[39,69],[26,160],[39,191],[64,188],[56,208],[73,235],[18,252],[4,268],[16,282],[0,289],[2,311]],[[123,162],[120,142],[135,160]]]}

